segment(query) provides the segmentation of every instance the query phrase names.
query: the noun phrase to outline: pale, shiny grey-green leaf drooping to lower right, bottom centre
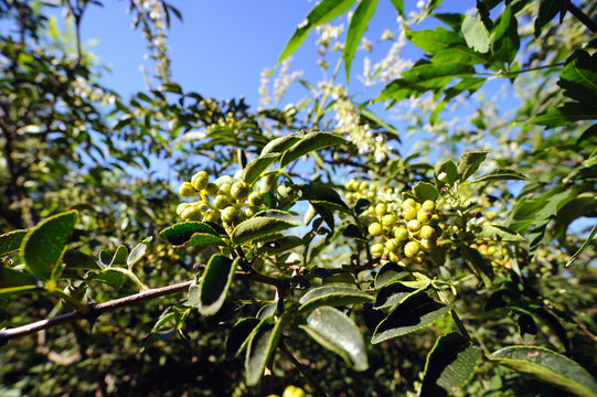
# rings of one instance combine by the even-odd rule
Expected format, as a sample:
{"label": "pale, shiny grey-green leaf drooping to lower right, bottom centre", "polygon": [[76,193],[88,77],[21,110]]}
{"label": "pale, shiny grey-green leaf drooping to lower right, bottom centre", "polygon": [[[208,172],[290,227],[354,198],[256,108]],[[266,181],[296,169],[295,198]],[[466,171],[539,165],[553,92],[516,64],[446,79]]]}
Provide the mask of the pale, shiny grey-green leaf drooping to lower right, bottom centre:
{"label": "pale, shiny grey-green leaf drooping to lower right, bottom centre", "polygon": [[316,309],[300,326],[317,343],[341,356],[354,371],[369,368],[363,335],[352,320],[340,310]]}

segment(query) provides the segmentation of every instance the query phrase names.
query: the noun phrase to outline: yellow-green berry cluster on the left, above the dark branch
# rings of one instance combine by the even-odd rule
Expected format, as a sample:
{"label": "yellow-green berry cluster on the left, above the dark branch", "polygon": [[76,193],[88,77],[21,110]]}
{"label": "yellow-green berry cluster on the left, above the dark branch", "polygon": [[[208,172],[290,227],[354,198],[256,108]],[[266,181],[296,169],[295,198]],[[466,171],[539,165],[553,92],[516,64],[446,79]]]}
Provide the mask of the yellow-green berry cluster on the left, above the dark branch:
{"label": "yellow-green berry cluster on the left, above the dark branch", "polygon": [[[252,217],[259,211],[264,197],[259,192],[252,192],[248,184],[231,178],[221,178],[210,182],[207,172],[199,171],[191,182],[180,185],[182,197],[200,196],[193,203],[181,203],[177,214],[183,221],[218,222],[233,226]],[[210,197],[213,197],[210,202]],[[243,207],[245,207],[243,210]]]}

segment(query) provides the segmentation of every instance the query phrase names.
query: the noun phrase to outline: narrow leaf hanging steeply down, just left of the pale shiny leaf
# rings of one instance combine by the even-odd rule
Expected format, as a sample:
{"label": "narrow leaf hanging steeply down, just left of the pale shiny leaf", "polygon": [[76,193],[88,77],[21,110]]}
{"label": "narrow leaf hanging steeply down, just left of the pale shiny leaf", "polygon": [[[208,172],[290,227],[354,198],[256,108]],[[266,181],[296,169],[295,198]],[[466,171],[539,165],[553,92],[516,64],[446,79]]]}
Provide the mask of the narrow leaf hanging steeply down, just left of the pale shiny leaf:
{"label": "narrow leaf hanging steeply down, just left of the pale shiny leaf", "polygon": [[275,324],[271,316],[262,320],[253,330],[247,346],[245,358],[245,371],[247,373],[247,385],[255,386],[264,374],[265,365],[271,358],[281,333],[288,325],[291,315],[285,312]]}

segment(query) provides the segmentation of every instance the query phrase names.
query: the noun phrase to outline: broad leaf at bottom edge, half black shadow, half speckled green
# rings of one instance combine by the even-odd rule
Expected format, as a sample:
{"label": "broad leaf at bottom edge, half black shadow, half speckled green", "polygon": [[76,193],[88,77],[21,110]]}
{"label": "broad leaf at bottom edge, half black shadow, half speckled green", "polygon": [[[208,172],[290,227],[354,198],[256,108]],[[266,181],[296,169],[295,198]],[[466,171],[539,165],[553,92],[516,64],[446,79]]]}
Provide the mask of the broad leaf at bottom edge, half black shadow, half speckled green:
{"label": "broad leaf at bottom edge, half black shadow, half speckled green", "polygon": [[427,355],[420,396],[452,395],[475,375],[481,351],[457,332],[441,335]]}

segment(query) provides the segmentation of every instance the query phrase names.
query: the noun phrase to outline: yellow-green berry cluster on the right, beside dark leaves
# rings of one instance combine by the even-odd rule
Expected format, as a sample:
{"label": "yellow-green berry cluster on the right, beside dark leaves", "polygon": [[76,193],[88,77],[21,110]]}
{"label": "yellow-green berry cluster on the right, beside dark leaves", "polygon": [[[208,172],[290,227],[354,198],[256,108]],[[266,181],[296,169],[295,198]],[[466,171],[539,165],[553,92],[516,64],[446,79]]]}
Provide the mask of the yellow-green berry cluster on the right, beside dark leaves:
{"label": "yellow-green berry cluster on the right, beside dark leaves", "polygon": [[424,203],[414,198],[402,201],[393,190],[375,194],[373,186],[354,180],[345,185],[349,202],[361,197],[376,202],[363,215],[373,221],[369,224],[369,234],[382,238],[384,243],[372,245],[371,254],[402,266],[422,264],[426,254],[437,246],[437,239],[443,233],[436,203],[431,200]]}

